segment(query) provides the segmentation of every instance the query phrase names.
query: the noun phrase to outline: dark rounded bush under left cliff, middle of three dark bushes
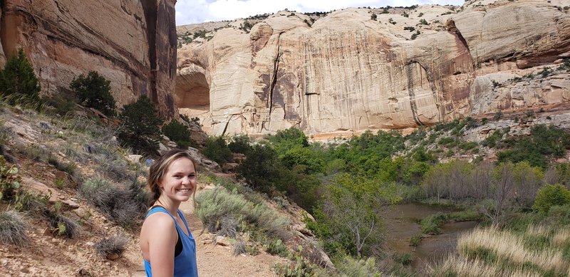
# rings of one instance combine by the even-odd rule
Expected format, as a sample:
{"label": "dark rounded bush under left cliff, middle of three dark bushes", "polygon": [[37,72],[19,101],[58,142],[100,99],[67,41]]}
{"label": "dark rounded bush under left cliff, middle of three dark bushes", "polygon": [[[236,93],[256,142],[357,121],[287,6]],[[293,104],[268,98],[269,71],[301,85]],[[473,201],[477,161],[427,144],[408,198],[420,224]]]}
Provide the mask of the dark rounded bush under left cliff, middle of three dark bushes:
{"label": "dark rounded bush under left cliff, middle of three dark bushes", "polygon": [[78,95],[83,105],[100,110],[101,113],[115,115],[115,99],[110,94],[110,80],[99,75],[97,71],[89,71],[87,75],[73,78],[70,88]]}

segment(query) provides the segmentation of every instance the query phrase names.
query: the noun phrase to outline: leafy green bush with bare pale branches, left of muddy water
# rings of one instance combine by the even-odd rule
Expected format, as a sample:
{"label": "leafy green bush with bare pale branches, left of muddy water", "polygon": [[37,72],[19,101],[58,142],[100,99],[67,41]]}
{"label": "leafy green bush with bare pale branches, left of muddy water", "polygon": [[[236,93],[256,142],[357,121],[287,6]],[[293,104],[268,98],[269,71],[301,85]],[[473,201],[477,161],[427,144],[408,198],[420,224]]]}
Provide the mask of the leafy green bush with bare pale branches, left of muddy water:
{"label": "leafy green bush with bare pale branches, left of muddy water", "polygon": [[400,200],[393,183],[340,174],[306,225],[329,254],[371,254],[383,240],[380,209]]}

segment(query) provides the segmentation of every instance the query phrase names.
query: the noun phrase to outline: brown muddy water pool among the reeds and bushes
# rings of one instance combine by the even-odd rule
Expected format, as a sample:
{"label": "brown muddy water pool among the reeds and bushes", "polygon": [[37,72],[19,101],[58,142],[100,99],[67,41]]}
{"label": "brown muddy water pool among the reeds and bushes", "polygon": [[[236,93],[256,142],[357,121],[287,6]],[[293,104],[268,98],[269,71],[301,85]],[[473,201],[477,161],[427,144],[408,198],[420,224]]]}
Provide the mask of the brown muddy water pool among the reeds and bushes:
{"label": "brown muddy water pool among the reeds and bushes", "polygon": [[414,268],[422,268],[425,263],[437,263],[447,254],[455,251],[457,236],[477,226],[475,221],[444,224],[442,234],[425,237],[419,246],[410,246],[410,238],[421,234],[420,220],[431,214],[457,211],[448,207],[427,204],[401,204],[390,209],[383,216],[388,233],[388,248],[398,254],[413,253]]}

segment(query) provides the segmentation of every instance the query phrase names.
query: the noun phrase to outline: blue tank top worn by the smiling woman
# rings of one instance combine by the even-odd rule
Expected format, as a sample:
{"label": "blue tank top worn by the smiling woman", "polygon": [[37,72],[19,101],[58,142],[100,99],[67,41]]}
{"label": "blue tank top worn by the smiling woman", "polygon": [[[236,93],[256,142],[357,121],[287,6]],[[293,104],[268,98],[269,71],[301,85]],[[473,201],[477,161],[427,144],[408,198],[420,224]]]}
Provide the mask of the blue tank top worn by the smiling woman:
{"label": "blue tank top worn by the smiling woman", "polygon": [[[182,215],[182,212],[179,209],[178,215],[184,222],[186,231],[188,231],[188,236],[186,236],[184,231],[182,231],[182,228],[178,226],[178,222],[174,216],[172,216],[172,214],[170,214],[165,208],[156,207],[155,209],[151,209],[148,211],[146,217],[156,212],[163,212],[172,217],[172,220],[174,220],[174,223],[176,225],[178,237],[180,240],[182,240],[182,252],[174,258],[174,277],[198,277],[198,268],[196,265],[196,241],[194,240],[192,233],[190,233],[190,228],[188,228],[188,223]],[[174,249],[172,249],[172,251],[174,251]],[[145,258],[143,258],[143,260],[145,260],[145,272],[147,273],[147,277],[152,277],[150,262],[148,262]]]}

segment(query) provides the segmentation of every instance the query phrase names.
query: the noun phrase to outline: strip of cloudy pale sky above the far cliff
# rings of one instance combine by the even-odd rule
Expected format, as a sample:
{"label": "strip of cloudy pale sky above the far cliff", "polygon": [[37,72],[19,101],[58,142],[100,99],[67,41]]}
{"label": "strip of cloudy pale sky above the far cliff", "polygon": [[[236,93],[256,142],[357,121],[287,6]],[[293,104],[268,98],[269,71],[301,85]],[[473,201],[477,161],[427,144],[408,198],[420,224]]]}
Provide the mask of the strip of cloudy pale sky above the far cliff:
{"label": "strip of cloudy pale sky above the far cliff", "polygon": [[176,25],[246,18],[256,14],[289,11],[332,11],[348,7],[412,6],[423,4],[452,4],[460,6],[465,0],[177,0]]}

